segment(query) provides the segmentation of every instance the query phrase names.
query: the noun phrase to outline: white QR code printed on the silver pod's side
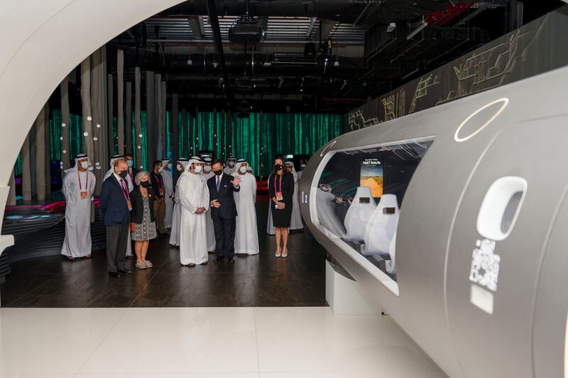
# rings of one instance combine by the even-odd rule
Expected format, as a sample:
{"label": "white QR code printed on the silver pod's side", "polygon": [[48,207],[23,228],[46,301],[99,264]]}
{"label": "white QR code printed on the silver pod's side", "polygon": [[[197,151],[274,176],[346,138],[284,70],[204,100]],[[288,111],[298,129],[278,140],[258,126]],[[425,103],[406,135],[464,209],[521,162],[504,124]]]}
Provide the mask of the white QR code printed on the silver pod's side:
{"label": "white QR code printed on the silver pod's side", "polygon": [[501,257],[495,254],[495,241],[477,240],[476,248],[471,255],[471,271],[469,280],[486,287],[491,291],[497,291],[499,279],[499,264]]}

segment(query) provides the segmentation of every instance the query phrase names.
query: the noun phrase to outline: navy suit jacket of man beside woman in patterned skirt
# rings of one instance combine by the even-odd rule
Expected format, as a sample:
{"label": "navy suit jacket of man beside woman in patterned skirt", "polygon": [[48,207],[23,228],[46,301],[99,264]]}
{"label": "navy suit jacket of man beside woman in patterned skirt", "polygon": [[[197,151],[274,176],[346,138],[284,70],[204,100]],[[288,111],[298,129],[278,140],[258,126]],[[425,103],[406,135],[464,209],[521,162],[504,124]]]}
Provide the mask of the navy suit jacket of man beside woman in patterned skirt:
{"label": "navy suit jacket of man beside woman in patterned skirt", "polygon": [[[124,182],[126,183],[126,179]],[[124,198],[124,191],[114,174],[102,183],[101,211],[104,226],[124,226],[130,222],[130,211]]]}

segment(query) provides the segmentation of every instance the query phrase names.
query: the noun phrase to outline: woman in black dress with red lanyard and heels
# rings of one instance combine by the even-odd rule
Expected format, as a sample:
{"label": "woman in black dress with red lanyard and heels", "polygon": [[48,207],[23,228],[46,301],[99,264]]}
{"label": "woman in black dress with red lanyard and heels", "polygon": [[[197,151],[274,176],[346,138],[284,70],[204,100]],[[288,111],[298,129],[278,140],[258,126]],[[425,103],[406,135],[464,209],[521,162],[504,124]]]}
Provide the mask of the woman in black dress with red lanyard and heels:
{"label": "woman in black dress with red lanyard and heels", "polygon": [[[274,170],[268,182],[271,216],[276,230],[276,257],[288,257],[288,228],[292,218],[294,179],[280,157],[274,160]],[[283,247],[280,249],[280,239]]]}

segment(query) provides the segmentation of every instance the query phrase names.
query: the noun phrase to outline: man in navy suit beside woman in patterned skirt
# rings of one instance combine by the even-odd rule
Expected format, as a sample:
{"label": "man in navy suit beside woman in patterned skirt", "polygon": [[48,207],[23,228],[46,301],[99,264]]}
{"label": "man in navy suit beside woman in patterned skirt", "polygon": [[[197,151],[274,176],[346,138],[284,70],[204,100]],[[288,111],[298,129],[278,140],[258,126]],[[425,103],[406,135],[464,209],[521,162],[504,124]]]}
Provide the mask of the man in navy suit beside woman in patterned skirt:
{"label": "man in navy suit beside woman in patterned skirt", "polygon": [[102,183],[101,211],[107,226],[107,267],[111,277],[119,278],[132,273],[125,265],[132,205],[126,183],[129,166],[124,159],[115,160],[113,166],[114,173]]}

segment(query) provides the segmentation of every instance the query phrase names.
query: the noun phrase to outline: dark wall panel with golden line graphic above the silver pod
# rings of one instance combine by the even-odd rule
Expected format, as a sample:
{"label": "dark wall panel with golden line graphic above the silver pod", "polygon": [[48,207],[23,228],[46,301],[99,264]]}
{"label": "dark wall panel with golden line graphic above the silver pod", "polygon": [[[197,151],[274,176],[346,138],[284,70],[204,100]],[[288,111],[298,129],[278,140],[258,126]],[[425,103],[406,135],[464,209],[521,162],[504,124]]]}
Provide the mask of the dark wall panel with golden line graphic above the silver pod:
{"label": "dark wall panel with golden line graphic above the silver pod", "polygon": [[358,130],[554,70],[568,65],[566,46],[568,6],[354,109],[346,124]]}

